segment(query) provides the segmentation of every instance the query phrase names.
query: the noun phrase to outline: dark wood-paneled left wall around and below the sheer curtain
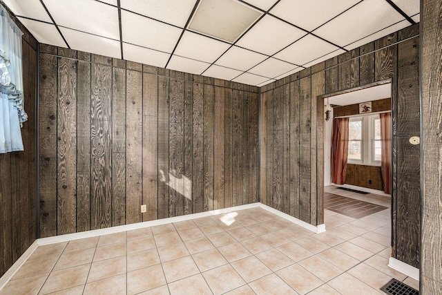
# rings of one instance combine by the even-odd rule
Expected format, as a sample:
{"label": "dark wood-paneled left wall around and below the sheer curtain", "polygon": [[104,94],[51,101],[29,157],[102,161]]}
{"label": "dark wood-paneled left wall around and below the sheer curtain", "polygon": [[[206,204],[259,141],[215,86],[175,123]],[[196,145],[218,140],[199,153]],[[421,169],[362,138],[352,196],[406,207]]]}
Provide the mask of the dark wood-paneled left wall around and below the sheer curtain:
{"label": "dark wood-paneled left wall around and below the sheer curtain", "polygon": [[37,233],[37,40],[13,15],[12,19],[23,32],[23,99],[28,121],[21,129],[24,151],[0,153],[0,276],[35,241]]}

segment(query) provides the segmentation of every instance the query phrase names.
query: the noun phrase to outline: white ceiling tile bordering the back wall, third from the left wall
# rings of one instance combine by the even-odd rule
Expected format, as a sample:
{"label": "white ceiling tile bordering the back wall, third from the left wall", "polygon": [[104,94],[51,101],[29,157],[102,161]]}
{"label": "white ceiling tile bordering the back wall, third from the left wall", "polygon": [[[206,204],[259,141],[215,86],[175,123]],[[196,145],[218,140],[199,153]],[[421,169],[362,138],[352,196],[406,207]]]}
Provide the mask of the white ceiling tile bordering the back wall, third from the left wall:
{"label": "white ceiling tile bordering the back wall, third from the left wall", "polygon": [[123,43],[123,58],[130,61],[164,68],[170,56],[169,53]]}

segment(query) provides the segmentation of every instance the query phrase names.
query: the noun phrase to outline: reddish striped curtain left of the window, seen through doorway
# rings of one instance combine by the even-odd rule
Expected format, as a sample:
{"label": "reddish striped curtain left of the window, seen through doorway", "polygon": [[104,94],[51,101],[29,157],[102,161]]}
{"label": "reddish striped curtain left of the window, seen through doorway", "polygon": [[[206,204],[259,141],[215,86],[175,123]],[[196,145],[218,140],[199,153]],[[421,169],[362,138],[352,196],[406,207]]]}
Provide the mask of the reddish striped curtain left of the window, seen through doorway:
{"label": "reddish striped curtain left of the window, seen through doorway", "polygon": [[332,182],[344,184],[348,156],[348,122],[349,118],[333,120],[332,135]]}

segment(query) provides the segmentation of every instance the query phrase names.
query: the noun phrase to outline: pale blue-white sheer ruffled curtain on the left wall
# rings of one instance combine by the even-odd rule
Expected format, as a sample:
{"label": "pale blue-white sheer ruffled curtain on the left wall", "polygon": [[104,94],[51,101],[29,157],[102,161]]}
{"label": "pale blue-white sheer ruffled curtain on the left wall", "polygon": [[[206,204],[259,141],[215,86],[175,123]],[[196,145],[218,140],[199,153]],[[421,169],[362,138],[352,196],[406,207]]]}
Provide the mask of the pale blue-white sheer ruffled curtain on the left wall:
{"label": "pale blue-white sheer ruffled curtain on the left wall", "polygon": [[28,120],[23,110],[23,33],[0,5],[0,153],[23,151],[20,127]]}

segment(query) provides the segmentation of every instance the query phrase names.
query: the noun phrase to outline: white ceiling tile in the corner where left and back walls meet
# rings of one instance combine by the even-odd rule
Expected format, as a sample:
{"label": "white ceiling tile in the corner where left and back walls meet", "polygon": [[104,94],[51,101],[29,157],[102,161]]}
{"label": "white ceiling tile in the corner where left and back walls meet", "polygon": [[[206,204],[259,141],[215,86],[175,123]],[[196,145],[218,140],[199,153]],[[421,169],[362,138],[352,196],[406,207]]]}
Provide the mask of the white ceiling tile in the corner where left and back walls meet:
{"label": "white ceiling tile in the corner where left and back walls meet", "polygon": [[64,43],[63,38],[54,25],[42,23],[41,21],[23,19],[23,17],[19,17],[19,20],[26,28],[28,28],[39,43],[67,48],[66,43]]}

